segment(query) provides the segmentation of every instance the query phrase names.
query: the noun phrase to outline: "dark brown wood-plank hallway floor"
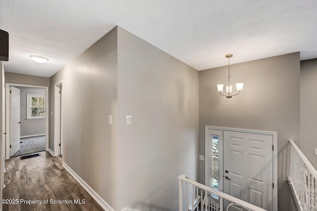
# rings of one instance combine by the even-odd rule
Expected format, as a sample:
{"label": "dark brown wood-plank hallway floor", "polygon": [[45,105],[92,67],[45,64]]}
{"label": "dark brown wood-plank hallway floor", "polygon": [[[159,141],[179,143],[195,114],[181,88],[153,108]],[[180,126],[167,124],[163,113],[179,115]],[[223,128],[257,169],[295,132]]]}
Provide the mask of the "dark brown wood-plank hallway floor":
{"label": "dark brown wood-plank hallway floor", "polygon": [[[3,199],[18,199],[19,203],[2,203],[3,211],[103,211],[64,169],[60,157],[48,152],[40,154],[35,158],[15,157],[5,161]],[[74,200],[78,199],[85,203],[76,204]],[[34,200],[36,204],[24,204],[20,200]],[[51,204],[54,202],[72,204]]]}

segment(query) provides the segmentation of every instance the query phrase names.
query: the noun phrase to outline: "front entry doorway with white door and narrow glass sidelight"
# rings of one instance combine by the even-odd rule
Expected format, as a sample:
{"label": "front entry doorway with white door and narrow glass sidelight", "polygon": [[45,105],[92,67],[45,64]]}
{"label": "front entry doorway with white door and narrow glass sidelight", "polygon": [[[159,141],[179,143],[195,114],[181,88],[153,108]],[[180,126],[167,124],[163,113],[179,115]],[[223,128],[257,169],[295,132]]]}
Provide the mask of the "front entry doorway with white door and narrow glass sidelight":
{"label": "front entry doorway with white door and narrow glass sidelight", "polygon": [[[206,185],[268,211],[277,210],[277,134],[206,127]],[[217,196],[214,196],[217,198]],[[224,202],[224,206],[228,205]],[[242,211],[231,206],[229,211]]]}

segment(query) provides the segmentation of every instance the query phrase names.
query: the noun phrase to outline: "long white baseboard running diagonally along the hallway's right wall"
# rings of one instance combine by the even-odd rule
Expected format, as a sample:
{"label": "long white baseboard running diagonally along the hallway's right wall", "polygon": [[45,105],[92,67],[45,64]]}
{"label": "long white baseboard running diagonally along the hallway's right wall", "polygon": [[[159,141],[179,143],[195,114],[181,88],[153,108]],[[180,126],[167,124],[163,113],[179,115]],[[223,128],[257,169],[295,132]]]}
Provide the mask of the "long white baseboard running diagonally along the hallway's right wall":
{"label": "long white baseboard running diagonally along the hallway's right wall", "polygon": [[94,191],[80,176],[78,176],[65,162],[63,167],[74,177],[74,179],[89,193],[91,197],[105,210],[114,211],[113,208],[103,199],[99,194]]}

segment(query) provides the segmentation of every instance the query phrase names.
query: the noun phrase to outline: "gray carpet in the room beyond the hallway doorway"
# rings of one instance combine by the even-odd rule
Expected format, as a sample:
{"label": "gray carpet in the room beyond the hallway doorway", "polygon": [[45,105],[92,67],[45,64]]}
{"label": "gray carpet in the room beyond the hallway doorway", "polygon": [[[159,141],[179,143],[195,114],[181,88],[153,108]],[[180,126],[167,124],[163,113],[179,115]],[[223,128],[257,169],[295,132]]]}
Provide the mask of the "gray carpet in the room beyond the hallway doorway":
{"label": "gray carpet in the room beyond the hallway doorway", "polygon": [[22,138],[20,141],[23,142],[20,144],[20,150],[12,157],[45,151],[45,136]]}

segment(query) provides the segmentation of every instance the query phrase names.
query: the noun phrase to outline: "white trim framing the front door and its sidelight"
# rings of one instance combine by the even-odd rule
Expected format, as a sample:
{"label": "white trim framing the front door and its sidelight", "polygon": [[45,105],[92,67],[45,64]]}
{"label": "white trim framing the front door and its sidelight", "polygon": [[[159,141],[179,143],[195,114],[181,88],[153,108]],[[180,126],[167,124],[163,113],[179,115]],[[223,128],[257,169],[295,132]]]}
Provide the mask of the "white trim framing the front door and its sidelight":
{"label": "white trim framing the front door and its sidelight", "polygon": [[[277,211],[278,204],[277,204],[277,132],[271,132],[271,131],[261,131],[261,130],[247,130],[247,129],[240,129],[240,128],[229,128],[229,127],[215,127],[215,126],[205,126],[205,148],[206,148],[206,143],[209,142],[209,137],[207,136],[208,130],[226,130],[226,131],[235,131],[235,132],[245,132],[245,133],[256,133],[256,134],[264,134],[264,135],[271,135],[273,136],[273,183],[275,184],[273,188],[273,210]],[[209,156],[206,153],[205,149],[205,171],[206,171],[206,166],[207,163],[206,161],[208,160]],[[223,172],[221,172],[223,173]],[[206,172],[205,172],[205,177],[206,177]]]}

